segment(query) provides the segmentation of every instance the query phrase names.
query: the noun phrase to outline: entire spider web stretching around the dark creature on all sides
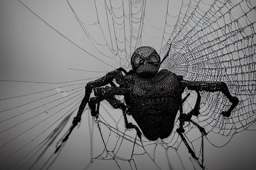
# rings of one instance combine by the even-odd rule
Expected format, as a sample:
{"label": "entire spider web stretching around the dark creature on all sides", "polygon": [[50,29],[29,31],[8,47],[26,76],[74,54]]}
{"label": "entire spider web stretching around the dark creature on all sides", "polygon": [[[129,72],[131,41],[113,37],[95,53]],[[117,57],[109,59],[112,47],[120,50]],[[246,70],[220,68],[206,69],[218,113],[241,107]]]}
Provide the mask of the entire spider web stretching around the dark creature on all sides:
{"label": "entire spider web stretching around the dark creature on all sides", "polygon": [[[162,68],[167,68],[188,80],[223,81],[228,85],[230,93],[238,97],[240,101],[238,106],[229,118],[224,118],[220,114],[221,111],[231,106],[227,98],[222,93],[200,92],[201,114],[193,120],[204,127],[207,132],[230,136],[229,139],[231,139],[234,134],[247,129],[255,122],[254,41],[256,24],[254,16],[256,4],[253,1],[184,0],[173,7],[174,1],[168,0],[164,5],[160,5],[163,10],[157,12],[154,12],[152,7],[150,8],[153,2],[146,0],[123,2],[105,0],[104,5],[99,1],[66,1],[65,5],[68,7],[69,15],[73,16],[82,33],[86,35],[86,41],[93,45],[91,47],[95,51],[90,51],[89,46],[83,47],[79,45],[82,43],[69,39],[67,32],[64,34],[58,31],[60,29],[41,18],[45,12],[40,12],[39,8],[47,8],[42,7],[45,2],[20,2],[27,10],[33,12],[37,19],[41,19],[67,41],[75,44],[90,57],[94,57],[97,62],[102,62],[111,68],[98,72],[92,71],[95,69],[71,68],[77,71],[97,73],[100,76],[58,83],[1,80],[3,83],[32,83],[36,86],[44,86],[42,91],[6,97],[0,101],[3,106],[1,113],[4,115],[1,117],[0,133],[10,134],[1,141],[0,146],[3,152],[8,152],[8,155],[3,156],[0,162],[0,164],[7,165],[9,163],[11,166],[7,169],[28,169],[31,165],[32,168],[39,167],[36,169],[41,167],[42,169],[54,169],[56,165],[53,163],[59,156],[59,153],[52,154],[54,146],[58,146],[67,133],[74,116],[72,114],[76,114],[76,108],[81,103],[86,83],[104,76],[106,72],[119,66],[127,70],[131,69],[131,54],[136,48],[145,46],[145,44],[158,50],[163,58],[171,43],[169,57],[163,62]],[[154,21],[152,18],[156,13],[161,17]],[[194,107],[196,101],[196,93],[193,91],[185,90],[183,97],[188,93],[192,95],[183,106],[185,113]],[[122,99],[118,96],[117,98]],[[30,102],[22,102],[26,99]],[[13,107],[4,107],[7,102],[17,104]],[[122,113],[111,108],[106,102],[102,102],[98,120],[91,120],[88,110],[84,111],[80,124],[82,126],[83,122],[88,121],[89,126],[86,130],[90,134],[90,147],[87,153],[90,153],[91,161],[83,168],[95,168],[97,165],[94,161],[101,159],[102,161],[114,161],[118,169],[140,169],[136,161],[149,157],[156,169],[163,169],[157,163],[156,147],[161,146],[166,152],[169,148],[176,151],[181,144],[178,134],[173,131],[167,139],[157,141],[148,141],[143,137],[140,142],[135,130],[124,128]],[[22,128],[24,123],[31,120],[35,120],[33,125],[29,128]],[[37,135],[32,137],[31,131],[35,131],[35,127],[42,126],[46,121],[51,123],[45,126],[44,130],[35,132]],[[128,117],[128,121],[136,125],[131,117]],[[176,118],[174,129],[178,125],[179,121]],[[196,148],[197,144],[193,144],[201,140],[201,133],[192,124],[185,124],[184,128],[186,139],[196,155],[199,155],[200,160],[203,161],[203,150],[200,145]],[[84,133],[84,129],[79,130],[76,130],[77,133]],[[213,137],[208,136],[204,139],[212,142]],[[21,138],[26,137],[27,141],[20,142]],[[72,140],[71,138],[72,136],[69,141]],[[35,140],[39,145],[34,144],[33,149],[20,153],[28,149],[28,146]],[[212,144],[218,145],[218,142],[214,141]],[[62,146],[60,150],[64,148]],[[126,148],[129,148],[129,151]],[[169,161],[167,154],[166,157]],[[14,158],[17,161],[13,162]],[[44,163],[41,162],[43,158]],[[98,164],[101,166],[100,161]],[[148,165],[149,168],[151,165]],[[170,162],[168,167],[172,168]]]}

